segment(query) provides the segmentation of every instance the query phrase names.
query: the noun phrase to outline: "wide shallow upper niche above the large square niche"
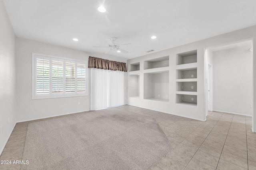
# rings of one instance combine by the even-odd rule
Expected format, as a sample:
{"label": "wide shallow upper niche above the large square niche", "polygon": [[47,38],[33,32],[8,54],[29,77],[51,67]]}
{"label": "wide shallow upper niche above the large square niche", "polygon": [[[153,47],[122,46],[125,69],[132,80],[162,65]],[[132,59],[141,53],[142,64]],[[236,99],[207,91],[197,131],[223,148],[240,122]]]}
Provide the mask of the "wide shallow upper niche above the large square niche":
{"label": "wide shallow upper niche above the large square niche", "polygon": [[144,70],[169,66],[169,56],[144,61]]}

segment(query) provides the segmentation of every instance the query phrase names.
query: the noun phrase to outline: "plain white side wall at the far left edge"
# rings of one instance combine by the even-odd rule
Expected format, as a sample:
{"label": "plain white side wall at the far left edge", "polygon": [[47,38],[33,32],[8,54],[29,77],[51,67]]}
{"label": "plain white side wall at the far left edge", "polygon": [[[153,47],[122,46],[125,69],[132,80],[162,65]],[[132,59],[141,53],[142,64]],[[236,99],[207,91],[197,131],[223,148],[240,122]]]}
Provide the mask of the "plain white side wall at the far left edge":
{"label": "plain white side wall at the far left edge", "polygon": [[[15,34],[0,0],[0,155],[16,123]],[[8,122],[10,118],[10,122]],[[2,132],[2,134],[1,134]]]}

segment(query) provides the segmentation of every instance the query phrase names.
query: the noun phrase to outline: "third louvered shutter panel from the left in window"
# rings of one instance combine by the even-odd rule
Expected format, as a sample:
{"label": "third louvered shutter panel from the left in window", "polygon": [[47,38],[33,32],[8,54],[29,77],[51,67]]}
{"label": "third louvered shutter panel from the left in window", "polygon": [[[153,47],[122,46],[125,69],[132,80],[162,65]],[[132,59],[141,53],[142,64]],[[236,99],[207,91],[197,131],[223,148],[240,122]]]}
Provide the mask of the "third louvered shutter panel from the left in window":
{"label": "third louvered shutter panel from the left in window", "polygon": [[76,70],[74,61],[66,61],[65,63],[65,92],[76,92]]}

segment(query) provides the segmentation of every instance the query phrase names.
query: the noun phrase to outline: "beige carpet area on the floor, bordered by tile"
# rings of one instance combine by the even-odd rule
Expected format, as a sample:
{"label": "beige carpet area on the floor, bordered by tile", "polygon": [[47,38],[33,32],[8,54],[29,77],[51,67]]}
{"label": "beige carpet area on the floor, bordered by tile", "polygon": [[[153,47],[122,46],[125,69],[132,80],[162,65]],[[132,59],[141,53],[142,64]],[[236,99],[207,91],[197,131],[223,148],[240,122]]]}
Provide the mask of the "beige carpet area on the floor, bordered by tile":
{"label": "beige carpet area on the floor, bordered by tile", "polygon": [[148,170],[171,150],[154,119],[111,108],[29,123],[21,170]]}

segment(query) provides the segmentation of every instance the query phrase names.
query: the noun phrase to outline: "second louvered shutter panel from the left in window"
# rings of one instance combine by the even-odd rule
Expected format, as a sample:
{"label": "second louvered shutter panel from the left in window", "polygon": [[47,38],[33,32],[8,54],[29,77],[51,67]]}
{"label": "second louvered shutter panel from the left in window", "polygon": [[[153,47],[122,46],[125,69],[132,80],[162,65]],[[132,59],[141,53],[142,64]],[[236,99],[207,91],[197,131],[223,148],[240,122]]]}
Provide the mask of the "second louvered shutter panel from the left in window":
{"label": "second louvered shutter panel from the left in window", "polygon": [[63,94],[63,60],[52,59],[52,95]]}

